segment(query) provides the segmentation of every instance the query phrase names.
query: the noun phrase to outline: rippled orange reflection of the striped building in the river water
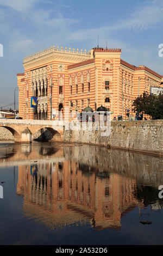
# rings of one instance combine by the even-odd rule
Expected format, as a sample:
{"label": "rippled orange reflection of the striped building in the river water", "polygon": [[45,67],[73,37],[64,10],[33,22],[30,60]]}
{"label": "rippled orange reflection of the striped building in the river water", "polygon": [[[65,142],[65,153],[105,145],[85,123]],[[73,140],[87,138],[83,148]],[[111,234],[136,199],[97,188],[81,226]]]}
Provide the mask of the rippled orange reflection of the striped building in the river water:
{"label": "rippled orange reflection of the striped building in the river water", "polygon": [[52,228],[87,221],[97,230],[120,228],[121,215],[137,204],[135,185],[135,179],[73,161],[18,167],[24,214]]}

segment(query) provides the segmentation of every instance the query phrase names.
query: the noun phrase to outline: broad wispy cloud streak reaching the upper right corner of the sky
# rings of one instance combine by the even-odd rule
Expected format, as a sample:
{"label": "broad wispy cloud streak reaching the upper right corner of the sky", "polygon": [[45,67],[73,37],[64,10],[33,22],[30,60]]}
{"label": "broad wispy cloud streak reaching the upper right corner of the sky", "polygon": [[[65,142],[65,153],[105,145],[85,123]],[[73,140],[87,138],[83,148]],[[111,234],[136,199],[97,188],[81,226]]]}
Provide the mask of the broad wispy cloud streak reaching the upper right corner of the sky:
{"label": "broad wispy cloud streak reaching the upper right corner of the sky", "polygon": [[146,1],[146,3],[136,7],[130,15],[130,19],[124,19],[109,26],[98,27],[94,29],[80,29],[71,33],[68,40],[85,40],[90,39],[94,34],[103,36],[111,35],[111,32],[131,30],[151,29],[163,21],[163,1]]}

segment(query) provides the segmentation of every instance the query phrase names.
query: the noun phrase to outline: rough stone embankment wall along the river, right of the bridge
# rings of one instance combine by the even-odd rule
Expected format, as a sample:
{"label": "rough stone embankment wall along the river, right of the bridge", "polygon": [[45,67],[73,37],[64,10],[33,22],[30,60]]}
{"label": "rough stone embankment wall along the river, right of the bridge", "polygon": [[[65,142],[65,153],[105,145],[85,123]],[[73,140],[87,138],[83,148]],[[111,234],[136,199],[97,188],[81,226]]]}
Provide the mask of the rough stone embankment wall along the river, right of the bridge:
{"label": "rough stone embankment wall along the river, right of the bridge", "polygon": [[163,120],[112,121],[109,136],[101,136],[100,130],[66,130],[65,142],[102,145],[163,155]]}

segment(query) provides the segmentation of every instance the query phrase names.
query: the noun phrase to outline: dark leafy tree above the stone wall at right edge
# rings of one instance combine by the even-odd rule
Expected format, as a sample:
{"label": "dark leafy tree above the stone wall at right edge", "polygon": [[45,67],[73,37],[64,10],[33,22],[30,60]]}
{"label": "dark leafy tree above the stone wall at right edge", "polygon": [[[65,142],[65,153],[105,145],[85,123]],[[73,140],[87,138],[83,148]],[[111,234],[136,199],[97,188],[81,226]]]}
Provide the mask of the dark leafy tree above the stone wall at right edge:
{"label": "dark leafy tree above the stone wall at right edge", "polygon": [[148,94],[144,92],[133,101],[136,112],[143,112],[144,114],[151,115],[152,119],[163,119],[163,95]]}

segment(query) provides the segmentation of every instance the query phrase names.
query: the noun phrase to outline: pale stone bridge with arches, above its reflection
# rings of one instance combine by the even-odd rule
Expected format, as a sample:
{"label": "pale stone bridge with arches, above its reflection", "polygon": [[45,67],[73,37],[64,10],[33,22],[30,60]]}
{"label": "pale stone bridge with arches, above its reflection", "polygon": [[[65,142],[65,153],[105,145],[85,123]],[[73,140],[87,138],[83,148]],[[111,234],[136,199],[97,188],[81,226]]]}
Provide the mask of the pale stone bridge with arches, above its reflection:
{"label": "pale stone bridge with arches, above its reflection", "polygon": [[51,141],[62,141],[62,125],[60,123],[54,125],[54,121],[0,119],[0,127],[8,129],[14,136],[15,142],[30,143],[35,133],[41,129],[47,129],[51,132]]}

